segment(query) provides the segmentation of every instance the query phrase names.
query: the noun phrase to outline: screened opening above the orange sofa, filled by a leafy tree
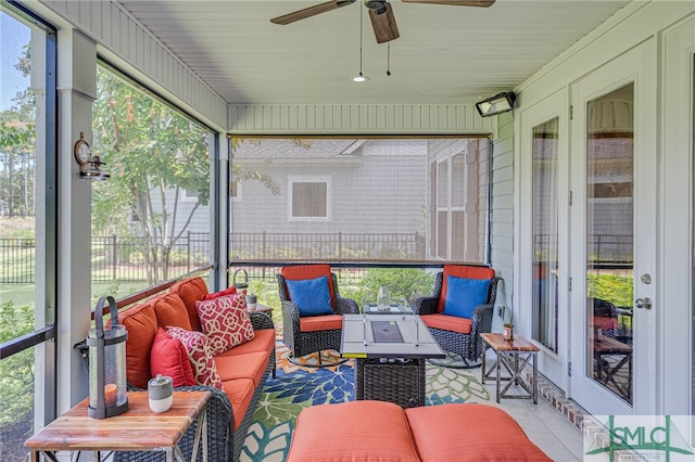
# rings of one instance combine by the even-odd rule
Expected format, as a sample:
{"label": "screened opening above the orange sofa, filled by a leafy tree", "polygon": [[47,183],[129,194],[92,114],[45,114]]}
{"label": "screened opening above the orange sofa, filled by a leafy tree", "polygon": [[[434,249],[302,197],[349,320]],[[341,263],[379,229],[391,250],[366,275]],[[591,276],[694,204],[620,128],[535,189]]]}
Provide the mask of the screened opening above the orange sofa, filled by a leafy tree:
{"label": "screened opening above the orange sofa, filled by a leafy tree", "polygon": [[116,298],[210,265],[214,134],[100,63],[92,151],[92,297]]}

